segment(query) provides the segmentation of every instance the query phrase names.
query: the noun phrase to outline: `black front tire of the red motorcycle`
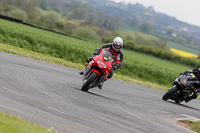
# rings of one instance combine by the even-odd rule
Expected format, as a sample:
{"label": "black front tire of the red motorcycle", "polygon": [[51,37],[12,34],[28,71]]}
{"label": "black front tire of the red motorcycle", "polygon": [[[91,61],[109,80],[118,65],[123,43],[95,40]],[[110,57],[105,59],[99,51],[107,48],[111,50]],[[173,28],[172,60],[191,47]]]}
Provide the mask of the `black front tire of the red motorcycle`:
{"label": "black front tire of the red motorcycle", "polygon": [[98,76],[97,73],[92,72],[92,74],[87,79],[87,81],[85,83],[83,83],[83,85],[81,87],[81,90],[85,91],[85,92],[88,91],[90,84],[92,84],[95,81],[95,79],[96,79],[97,76]]}

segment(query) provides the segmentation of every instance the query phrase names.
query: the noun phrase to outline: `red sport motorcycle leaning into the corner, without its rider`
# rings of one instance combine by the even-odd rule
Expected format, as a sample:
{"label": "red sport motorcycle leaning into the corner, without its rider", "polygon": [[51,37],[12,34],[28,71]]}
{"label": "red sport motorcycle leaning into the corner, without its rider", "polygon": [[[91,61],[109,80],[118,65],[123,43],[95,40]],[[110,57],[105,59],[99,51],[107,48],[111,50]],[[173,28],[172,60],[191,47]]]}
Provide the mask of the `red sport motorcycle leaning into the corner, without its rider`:
{"label": "red sport motorcycle leaning into the corner, without its rider", "polygon": [[97,87],[101,82],[108,80],[107,76],[112,70],[112,56],[108,51],[101,52],[86,66],[83,73],[82,91],[88,91],[90,88]]}

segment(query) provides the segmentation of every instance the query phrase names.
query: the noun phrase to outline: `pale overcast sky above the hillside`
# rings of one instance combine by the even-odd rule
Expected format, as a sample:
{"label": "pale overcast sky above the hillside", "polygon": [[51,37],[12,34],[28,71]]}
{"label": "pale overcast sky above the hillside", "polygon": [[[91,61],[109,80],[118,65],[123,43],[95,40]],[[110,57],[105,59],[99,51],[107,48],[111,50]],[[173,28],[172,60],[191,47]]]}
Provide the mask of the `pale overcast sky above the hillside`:
{"label": "pale overcast sky above the hillside", "polygon": [[200,27],[200,0],[113,0],[152,6],[156,12],[173,16],[177,20]]}

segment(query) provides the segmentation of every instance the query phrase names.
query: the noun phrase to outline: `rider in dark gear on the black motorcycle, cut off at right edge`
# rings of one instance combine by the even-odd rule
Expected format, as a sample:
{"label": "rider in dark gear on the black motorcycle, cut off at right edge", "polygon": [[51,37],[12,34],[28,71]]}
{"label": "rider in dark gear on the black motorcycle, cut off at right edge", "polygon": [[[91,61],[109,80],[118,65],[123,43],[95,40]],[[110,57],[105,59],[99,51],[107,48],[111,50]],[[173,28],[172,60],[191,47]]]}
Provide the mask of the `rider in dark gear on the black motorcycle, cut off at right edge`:
{"label": "rider in dark gear on the black motorcycle, cut off at right edge", "polygon": [[188,87],[194,86],[195,88],[193,94],[185,99],[185,102],[188,103],[190,100],[196,99],[199,95],[198,92],[200,91],[200,68],[185,71],[180,75],[185,74],[190,74],[191,76],[187,79],[186,82],[183,83],[183,85]]}

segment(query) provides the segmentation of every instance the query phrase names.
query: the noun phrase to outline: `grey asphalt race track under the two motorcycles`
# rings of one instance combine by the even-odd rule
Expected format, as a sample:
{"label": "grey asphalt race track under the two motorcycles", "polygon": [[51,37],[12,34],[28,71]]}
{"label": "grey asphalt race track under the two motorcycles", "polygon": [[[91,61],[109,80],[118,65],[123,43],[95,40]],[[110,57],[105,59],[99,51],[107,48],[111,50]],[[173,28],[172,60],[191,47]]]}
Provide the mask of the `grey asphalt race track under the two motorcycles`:
{"label": "grey asphalt race track under the two motorcycles", "polygon": [[179,118],[200,118],[200,101],[175,104],[165,93],[111,79],[80,90],[78,70],[0,52],[0,112],[60,133],[191,133]]}

